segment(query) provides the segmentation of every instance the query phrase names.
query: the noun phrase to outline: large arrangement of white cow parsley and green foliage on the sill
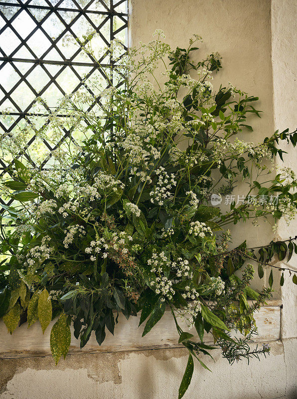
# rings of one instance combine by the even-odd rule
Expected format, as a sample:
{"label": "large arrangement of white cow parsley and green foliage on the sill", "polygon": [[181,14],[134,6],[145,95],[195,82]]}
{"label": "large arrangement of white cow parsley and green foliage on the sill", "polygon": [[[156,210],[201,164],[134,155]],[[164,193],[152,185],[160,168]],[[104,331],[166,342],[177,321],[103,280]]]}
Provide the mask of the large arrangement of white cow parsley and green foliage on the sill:
{"label": "large arrangement of white cow parsley and green foliage on the sill", "polygon": [[[269,353],[266,344],[248,346],[257,333],[253,314],[271,296],[273,269],[283,271],[284,283],[286,268],[270,262],[297,253],[296,237],[231,249],[228,226],[294,217],[296,176],[288,168],[275,173],[273,159],[282,159],[279,141],[296,146],[297,132],[277,131],[258,144],[240,139],[252,130],[248,117],[260,117],[258,98],[231,84],[214,91],[221,57],[195,61],[200,36],[171,50],[162,31],[155,35],[125,53],[112,43],[118,58],[102,72],[108,87],[88,82],[51,112],[39,99],[46,123],[30,119],[2,137],[12,178],[1,190],[15,205],[1,214],[0,317],[10,333],[38,319],[44,332],[57,317],[50,334],[57,364],[68,352],[72,323],[81,348],[93,331],[101,345],[106,329],[116,334],[118,313],[129,319],[141,312],[144,336],[169,307],[189,351],[181,398],[193,358],[207,369],[200,355],[214,348],[230,363]],[[78,45],[96,59],[88,37]],[[46,170],[25,162],[32,132],[59,144]],[[225,211],[212,204],[232,197],[240,182],[241,203],[231,199]],[[271,268],[270,286],[261,292],[250,287],[252,263],[260,278],[263,265]],[[180,321],[195,327],[198,339]],[[242,337],[232,338],[231,330]],[[204,343],[205,332],[213,345]]]}

